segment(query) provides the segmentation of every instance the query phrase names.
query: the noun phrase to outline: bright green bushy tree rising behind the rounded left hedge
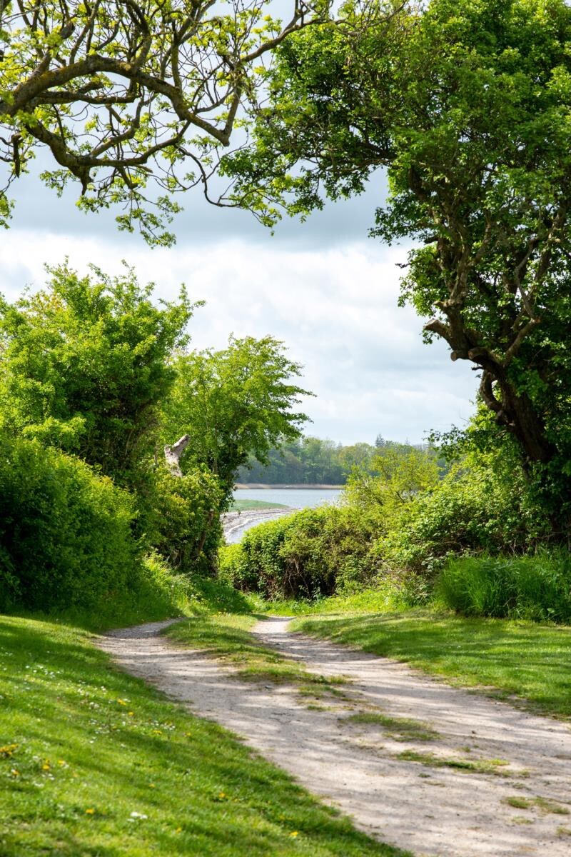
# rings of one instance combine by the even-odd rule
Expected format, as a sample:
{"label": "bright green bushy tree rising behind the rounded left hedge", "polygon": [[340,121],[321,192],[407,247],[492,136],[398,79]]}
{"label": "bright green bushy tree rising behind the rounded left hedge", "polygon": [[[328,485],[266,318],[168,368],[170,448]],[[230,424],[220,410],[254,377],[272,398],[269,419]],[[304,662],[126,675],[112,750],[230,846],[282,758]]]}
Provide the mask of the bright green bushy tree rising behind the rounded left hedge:
{"label": "bright green bushy tree rising behind the rounded left hedge", "polygon": [[193,312],[155,306],[130,269],[48,268],[43,291],[0,307],[3,428],[74,452],[133,487],[154,452],[158,407],[175,380],[167,365]]}

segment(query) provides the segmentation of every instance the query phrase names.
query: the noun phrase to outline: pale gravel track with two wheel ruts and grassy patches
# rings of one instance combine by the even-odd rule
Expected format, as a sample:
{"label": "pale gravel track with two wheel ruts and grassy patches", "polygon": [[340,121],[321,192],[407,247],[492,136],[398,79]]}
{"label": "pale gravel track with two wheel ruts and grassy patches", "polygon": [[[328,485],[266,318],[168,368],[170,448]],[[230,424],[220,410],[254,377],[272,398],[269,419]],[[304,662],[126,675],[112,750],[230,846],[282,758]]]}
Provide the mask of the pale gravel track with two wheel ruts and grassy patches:
{"label": "pale gravel track with two wheel ruts and grassy patches", "polygon": [[161,636],[169,623],[111,632],[130,673],[240,734],[383,842],[413,854],[550,854],[571,846],[571,730],[407,666],[260,621],[266,644],[325,678],[320,699],[232,677]]}

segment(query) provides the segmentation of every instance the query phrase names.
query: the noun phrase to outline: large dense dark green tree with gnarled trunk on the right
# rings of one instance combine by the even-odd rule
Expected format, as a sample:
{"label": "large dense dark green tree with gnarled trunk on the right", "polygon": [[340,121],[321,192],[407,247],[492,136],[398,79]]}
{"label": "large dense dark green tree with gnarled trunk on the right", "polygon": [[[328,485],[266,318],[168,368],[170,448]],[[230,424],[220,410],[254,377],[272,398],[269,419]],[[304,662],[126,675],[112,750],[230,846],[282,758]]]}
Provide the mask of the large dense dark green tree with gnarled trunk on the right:
{"label": "large dense dark green tree with gnarled trunk on the right", "polygon": [[[280,46],[255,144],[225,169],[290,213],[360,193],[372,234],[413,239],[402,301],[513,434],[552,509],[571,495],[571,9],[563,0],[346,8]],[[276,173],[290,177],[280,187]],[[287,189],[284,192],[283,189]],[[565,512],[567,515],[568,512]]]}

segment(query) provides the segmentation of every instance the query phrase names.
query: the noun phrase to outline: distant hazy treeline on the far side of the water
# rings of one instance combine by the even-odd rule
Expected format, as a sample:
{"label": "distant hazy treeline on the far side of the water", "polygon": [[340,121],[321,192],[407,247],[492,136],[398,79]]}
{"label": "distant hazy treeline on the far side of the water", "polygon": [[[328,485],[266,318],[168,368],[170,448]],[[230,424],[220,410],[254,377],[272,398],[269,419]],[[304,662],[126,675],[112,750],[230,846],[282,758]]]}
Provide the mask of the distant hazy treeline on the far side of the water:
{"label": "distant hazy treeline on the far side of the water", "polygon": [[374,444],[354,443],[352,446],[342,446],[328,438],[302,437],[272,449],[270,464],[260,464],[253,458],[248,465],[241,467],[237,482],[344,485],[355,467],[369,470],[375,453],[384,447],[401,449],[403,453],[411,448],[429,448],[425,444],[412,447],[408,443],[384,440],[381,434]]}

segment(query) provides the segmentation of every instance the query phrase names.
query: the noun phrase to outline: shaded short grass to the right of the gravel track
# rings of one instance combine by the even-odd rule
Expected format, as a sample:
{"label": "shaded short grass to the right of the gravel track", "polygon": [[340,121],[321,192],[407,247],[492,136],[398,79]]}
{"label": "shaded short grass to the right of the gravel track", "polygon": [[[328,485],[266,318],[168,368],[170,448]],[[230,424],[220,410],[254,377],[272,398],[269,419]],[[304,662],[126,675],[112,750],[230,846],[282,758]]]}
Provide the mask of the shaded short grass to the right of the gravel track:
{"label": "shaded short grass to the right of the gravel track", "polygon": [[411,663],[453,684],[497,689],[571,716],[571,627],[462,618],[434,610],[296,619],[294,628]]}

